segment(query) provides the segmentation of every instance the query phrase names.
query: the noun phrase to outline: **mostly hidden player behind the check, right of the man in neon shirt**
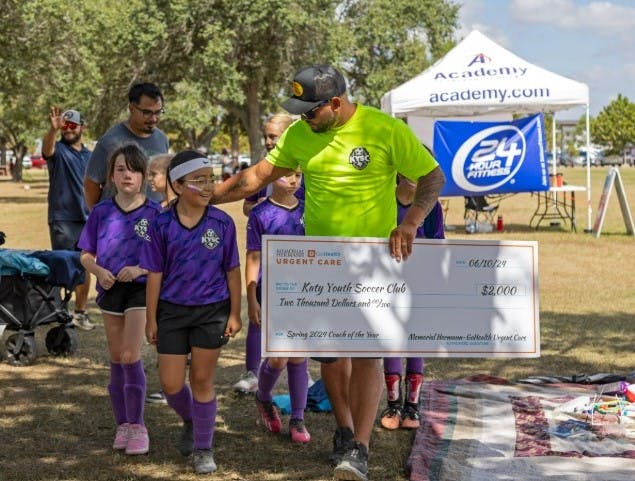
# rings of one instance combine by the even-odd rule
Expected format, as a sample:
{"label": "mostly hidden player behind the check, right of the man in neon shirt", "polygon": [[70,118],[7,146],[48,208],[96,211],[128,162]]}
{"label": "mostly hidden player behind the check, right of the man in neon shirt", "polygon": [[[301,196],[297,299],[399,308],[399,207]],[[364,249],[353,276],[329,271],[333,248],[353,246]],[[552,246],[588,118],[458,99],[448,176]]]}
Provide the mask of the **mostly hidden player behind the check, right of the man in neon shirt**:
{"label": "mostly hidden player behind the check, right of the man in neon shirt", "polygon": [[[397,223],[401,223],[403,217],[412,204],[417,185],[397,175]],[[443,209],[439,202],[425,218],[423,224],[417,229],[417,237],[420,239],[444,239]],[[405,429],[417,429],[419,420],[419,393],[423,384],[424,361],[422,357],[406,358],[406,390],[405,399],[402,398],[402,359],[400,357],[384,358],[384,380],[388,406],[381,413],[381,425],[385,429],[393,430],[398,427]]]}

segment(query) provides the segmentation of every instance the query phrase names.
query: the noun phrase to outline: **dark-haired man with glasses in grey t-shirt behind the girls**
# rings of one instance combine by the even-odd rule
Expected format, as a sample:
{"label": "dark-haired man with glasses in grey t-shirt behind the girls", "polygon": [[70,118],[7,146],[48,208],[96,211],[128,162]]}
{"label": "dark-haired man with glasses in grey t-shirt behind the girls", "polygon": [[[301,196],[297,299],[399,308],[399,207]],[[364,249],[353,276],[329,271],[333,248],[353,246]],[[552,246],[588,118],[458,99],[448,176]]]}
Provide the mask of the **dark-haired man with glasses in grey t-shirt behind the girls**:
{"label": "dark-haired man with glasses in grey t-shirt behind the girls", "polygon": [[[111,127],[97,142],[84,178],[84,196],[89,210],[100,200],[112,197],[106,171],[110,155],[124,144],[136,144],[151,157],[168,152],[168,137],[157,128],[163,110],[163,94],[152,83],[138,83],[128,92],[128,119]],[[161,201],[160,194],[148,186],[148,198]]]}

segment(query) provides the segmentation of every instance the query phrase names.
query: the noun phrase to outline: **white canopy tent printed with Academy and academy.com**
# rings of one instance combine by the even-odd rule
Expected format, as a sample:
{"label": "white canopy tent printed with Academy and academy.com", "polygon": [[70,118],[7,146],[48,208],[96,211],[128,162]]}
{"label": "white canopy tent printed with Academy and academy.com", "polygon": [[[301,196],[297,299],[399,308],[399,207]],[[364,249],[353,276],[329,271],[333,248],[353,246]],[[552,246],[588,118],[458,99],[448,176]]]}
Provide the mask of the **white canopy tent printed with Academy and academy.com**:
{"label": "white canopy tent printed with Academy and academy.com", "polygon": [[[501,120],[515,113],[556,112],[580,106],[586,107],[587,230],[590,230],[587,85],[537,67],[474,30],[434,65],[381,99],[382,110],[406,118],[427,145],[432,145],[434,121],[439,118]],[[554,119],[553,145],[556,145],[555,124]],[[554,155],[554,174],[555,166]]]}

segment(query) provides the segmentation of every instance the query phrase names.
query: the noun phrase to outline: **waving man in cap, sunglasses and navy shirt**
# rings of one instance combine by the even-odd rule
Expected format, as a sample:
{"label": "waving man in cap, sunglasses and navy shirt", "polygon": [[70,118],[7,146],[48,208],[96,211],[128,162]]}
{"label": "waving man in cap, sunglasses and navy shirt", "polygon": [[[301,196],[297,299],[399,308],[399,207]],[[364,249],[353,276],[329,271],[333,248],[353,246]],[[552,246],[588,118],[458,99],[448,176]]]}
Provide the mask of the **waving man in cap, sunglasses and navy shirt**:
{"label": "waving man in cap, sunglasses and navy shirt", "polygon": [[[49,172],[48,224],[53,250],[78,250],[77,241],[84,228],[88,209],[84,202],[83,179],[90,150],[82,144],[86,129],[84,119],[77,110],[61,113],[51,107],[51,127],[42,139],[42,157]],[[61,131],[59,141],[57,133]],[[86,314],[90,290],[90,274],[86,272],[84,284],[75,288],[73,324],[89,331],[95,327]]]}

